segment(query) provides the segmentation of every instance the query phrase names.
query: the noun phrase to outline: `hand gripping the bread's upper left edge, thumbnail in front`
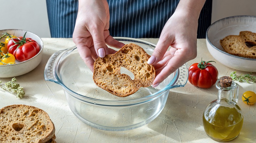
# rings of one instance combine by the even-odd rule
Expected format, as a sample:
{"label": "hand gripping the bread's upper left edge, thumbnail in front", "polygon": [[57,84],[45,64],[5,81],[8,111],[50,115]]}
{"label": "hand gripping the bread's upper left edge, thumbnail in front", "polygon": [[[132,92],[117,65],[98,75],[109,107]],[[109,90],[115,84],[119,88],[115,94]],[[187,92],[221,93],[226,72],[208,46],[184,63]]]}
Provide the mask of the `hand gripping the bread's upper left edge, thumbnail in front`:
{"label": "hand gripping the bread's upper left edge, thumbnail in front", "polygon": [[80,0],[73,41],[85,64],[94,70],[97,57],[116,53],[106,44],[121,48],[124,44],[109,34],[109,8],[106,0]]}

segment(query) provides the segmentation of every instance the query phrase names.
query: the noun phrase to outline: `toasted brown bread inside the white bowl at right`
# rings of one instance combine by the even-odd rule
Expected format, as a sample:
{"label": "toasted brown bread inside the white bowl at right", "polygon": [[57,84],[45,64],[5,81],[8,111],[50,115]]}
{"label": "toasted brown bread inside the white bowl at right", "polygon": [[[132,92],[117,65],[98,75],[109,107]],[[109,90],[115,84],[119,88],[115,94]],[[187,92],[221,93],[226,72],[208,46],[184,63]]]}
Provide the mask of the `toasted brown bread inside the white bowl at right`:
{"label": "toasted brown bread inside the white bowl at right", "polygon": [[228,35],[220,44],[224,51],[240,57],[256,58],[256,33],[241,31],[239,35]]}

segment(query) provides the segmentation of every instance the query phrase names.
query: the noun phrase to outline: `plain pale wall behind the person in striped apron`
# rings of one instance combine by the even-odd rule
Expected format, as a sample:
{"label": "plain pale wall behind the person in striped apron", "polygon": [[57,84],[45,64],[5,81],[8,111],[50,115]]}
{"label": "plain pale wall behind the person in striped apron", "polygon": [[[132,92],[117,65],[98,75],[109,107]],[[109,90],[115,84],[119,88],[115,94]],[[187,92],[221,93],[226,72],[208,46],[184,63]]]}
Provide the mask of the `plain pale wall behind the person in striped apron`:
{"label": "plain pale wall behind the person in striped apron", "polygon": [[[228,16],[255,15],[256,0],[213,0],[212,23]],[[1,0],[0,29],[24,29],[51,37],[45,0]]]}

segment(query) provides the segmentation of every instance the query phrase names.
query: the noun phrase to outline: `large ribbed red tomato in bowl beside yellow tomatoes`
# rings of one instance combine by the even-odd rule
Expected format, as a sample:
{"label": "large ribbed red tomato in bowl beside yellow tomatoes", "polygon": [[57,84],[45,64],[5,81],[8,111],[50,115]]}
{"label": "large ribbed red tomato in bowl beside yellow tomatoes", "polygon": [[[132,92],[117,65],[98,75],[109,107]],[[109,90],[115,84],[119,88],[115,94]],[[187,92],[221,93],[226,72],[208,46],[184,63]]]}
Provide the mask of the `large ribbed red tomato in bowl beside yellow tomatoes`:
{"label": "large ribbed red tomato in bowl beside yellow tomatoes", "polygon": [[[26,33],[25,33],[26,35]],[[40,46],[31,38],[17,37],[8,41],[8,52],[13,54],[15,58],[23,62],[35,56],[40,51]]]}

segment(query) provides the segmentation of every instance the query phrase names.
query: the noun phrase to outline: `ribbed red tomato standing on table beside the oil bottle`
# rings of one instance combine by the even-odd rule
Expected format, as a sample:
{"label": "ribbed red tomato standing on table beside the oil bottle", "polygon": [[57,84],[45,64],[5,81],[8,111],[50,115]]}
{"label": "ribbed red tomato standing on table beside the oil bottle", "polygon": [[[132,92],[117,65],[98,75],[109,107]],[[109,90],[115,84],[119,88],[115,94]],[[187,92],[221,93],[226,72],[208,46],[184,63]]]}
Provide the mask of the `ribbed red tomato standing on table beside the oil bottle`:
{"label": "ribbed red tomato standing on table beside the oil bottle", "polygon": [[200,63],[192,64],[188,69],[188,81],[201,88],[210,88],[218,79],[218,70],[209,62],[201,61]]}

